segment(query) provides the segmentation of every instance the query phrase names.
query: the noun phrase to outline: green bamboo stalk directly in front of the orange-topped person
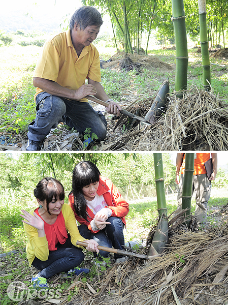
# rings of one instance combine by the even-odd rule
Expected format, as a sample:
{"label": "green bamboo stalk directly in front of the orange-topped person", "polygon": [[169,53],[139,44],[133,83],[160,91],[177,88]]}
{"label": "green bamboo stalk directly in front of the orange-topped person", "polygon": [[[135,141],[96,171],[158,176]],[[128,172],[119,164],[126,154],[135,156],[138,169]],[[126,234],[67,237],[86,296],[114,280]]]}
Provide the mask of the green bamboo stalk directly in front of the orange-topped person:
{"label": "green bamboo stalk directly in front of the orange-topped person", "polygon": [[190,223],[190,208],[191,208],[191,192],[192,192],[192,177],[194,172],[194,153],[185,154],[185,169],[182,191],[182,209],[188,208],[185,212],[185,222],[187,226]]}

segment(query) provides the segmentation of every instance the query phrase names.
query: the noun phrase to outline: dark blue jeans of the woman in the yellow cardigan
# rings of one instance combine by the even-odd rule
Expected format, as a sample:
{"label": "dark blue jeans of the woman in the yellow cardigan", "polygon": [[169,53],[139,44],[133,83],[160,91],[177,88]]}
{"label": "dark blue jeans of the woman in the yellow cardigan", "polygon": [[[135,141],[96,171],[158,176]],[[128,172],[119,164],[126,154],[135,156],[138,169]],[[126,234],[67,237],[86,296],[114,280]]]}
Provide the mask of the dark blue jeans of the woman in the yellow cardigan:
{"label": "dark blue jeans of the woman in the yellow cardigan", "polygon": [[41,270],[38,273],[40,277],[49,279],[56,273],[67,272],[79,266],[84,260],[82,249],[72,245],[70,234],[68,234],[68,239],[63,245],[58,243],[56,247],[57,250],[49,251],[46,261],[35,257],[32,262],[32,266]]}

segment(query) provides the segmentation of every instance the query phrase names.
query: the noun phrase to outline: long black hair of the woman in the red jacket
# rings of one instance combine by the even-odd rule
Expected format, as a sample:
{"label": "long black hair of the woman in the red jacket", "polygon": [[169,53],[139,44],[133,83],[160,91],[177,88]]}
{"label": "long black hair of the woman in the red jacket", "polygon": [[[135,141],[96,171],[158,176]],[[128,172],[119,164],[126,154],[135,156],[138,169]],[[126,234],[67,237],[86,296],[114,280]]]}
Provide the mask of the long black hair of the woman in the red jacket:
{"label": "long black hair of the woman in the red jacket", "polygon": [[100,180],[100,171],[94,163],[90,161],[81,161],[76,164],[73,171],[72,191],[74,196],[74,210],[77,215],[86,221],[87,219],[87,203],[83,195],[83,187],[96,183]]}

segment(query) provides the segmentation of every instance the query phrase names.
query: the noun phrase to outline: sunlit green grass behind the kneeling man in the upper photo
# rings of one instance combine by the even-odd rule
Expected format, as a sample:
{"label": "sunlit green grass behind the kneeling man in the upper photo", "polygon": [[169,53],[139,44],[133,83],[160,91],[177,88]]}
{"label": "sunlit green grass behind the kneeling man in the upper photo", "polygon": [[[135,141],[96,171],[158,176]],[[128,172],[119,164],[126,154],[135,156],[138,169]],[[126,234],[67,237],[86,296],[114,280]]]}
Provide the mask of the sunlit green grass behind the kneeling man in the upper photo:
{"label": "sunlit green grass behind the kneeling man in the upper photo", "polygon": [[[99,44],[97,44],[99,48]],[[35,69],[41,48],[38,46],[7,46],[0,47],[0,132],[26,135],[28,124],[36,115],[32,84],[32,73]],[[109,59],[116,50],[112,47],[101,48],[101,58]],[[189,49],[188,88],[196,85],[203,89],[201,54],[196,49]],[[162,62],[175,64],[175,50],[150,50],[150,55],[157,56]],[[228,73],[227,67],[220,67],[223,62],[211,58],[211,82],[214,94],[227,100]],[[102,69],[102,85],[107,94],[117,101],[127,99],[128,95],[135,96],[138,101],[154,96],[162,82],[169,77],[170,92],[175,88],[175,69],[162,71],[154,68],[144,69],[141,74],[136,71],[125,72],[114,69]]]}

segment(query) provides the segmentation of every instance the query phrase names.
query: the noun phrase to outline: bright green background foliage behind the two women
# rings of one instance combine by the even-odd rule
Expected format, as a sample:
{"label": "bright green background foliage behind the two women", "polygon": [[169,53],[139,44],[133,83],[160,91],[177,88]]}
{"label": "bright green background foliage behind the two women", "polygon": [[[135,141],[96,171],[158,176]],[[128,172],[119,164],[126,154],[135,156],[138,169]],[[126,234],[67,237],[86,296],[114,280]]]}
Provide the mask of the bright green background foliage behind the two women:
{"label": "bright green background foliage behind the two women", "polygon": [[[166,194],[171,194],[167,199],[168,214],[171,214],[177,204],[175,165],[168,153],[162,154],[162,159]],[[65,202],[68,203],[68,194],[72,189],[72,171],[82,160],[94,162],[101,174],[109,177],[130,203],[126,217],[127,239],[139,237],[140,230],[148,228],[156,221],[157,203],[152,153],[14,155],[2,153],[0,154],[1,252],[25,248],[26,236],[19,216],[20,210],[22,208],[32,210],[37,207],[33,191],[41,178],[55,175],[64,186]],[[227,173],[219,170],[212,188],[224,189],[227,186]],[[224,200],[217,198],[216,204],[225,203]]]}

